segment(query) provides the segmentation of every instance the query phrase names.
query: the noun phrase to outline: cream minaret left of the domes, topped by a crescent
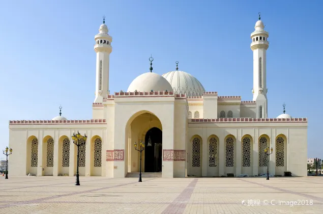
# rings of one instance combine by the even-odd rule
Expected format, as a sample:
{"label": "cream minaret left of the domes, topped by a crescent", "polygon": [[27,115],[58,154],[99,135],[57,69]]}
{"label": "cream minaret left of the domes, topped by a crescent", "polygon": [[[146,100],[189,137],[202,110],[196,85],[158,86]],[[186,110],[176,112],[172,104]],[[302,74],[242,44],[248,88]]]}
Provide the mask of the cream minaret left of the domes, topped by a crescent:
{"label": "cream minaret left of the domes, topped by a crescent", "polygon": [[109,58],[112,51],[112,37],[109,36],[108,31],[105,16],[103,16],[103,24],[100,26],[99,34],[94,37],[94,50],[97,53],[94,102],[102,103],[103,98],[109,94]]}

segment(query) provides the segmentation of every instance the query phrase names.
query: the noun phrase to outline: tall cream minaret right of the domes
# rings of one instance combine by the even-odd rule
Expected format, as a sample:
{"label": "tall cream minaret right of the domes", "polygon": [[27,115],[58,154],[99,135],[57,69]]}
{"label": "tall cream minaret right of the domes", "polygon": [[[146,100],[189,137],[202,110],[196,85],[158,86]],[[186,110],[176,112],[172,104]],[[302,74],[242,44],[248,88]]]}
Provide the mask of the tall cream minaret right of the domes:
{"label": "tall cream minaret right of the domes", "polygon": [[268,32],[260,20],[256,22],[255,31],[251,33],[251,50],[253,51],[253,101],[257,103],[256,118],[268,118],[266,51],[269,46]]}

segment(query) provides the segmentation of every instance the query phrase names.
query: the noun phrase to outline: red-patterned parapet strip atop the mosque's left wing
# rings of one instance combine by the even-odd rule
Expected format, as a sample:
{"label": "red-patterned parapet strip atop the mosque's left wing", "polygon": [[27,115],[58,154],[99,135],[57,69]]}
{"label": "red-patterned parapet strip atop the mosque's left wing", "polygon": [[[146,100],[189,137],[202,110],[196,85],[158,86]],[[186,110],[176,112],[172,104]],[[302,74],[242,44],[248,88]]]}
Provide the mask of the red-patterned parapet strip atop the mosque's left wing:
{"label": "red-patterned parapet strip atop the mosque's left wing", "polygon": [[9,125],[106,124],[106,119],[92,120],[9,120]]}

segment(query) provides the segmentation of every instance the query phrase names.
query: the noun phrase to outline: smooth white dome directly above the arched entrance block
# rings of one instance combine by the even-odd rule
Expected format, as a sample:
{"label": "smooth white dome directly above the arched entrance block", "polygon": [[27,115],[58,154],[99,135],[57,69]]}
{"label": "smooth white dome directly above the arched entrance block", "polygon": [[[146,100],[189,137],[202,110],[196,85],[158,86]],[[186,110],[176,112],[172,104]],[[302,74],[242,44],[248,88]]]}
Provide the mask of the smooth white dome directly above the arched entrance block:
{"label": "smooth white dome directly above the arched entrance block", "polygon": [[143,73],[137,76],[128,88],[128,92],[134,91],[150,92],[150,91],[173,91],[171,85],[161,75],[153,72]]}

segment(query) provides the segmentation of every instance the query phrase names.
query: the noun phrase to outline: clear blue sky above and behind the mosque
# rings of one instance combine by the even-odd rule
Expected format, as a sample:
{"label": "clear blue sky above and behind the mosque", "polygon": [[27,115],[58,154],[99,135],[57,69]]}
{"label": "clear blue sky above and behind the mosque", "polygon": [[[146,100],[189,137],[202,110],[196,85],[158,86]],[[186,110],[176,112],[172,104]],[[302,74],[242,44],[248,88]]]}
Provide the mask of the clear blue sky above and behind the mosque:
{"label": "clear blue sky above and behind the mosque", "polygon": [[[180,70],[207,91],[252,100],[250,34],[261,12],[269,32],[268,113],[307,117],[308,156],[321,157],[322,1],[3,1],[0,7],[0,148],[9,120],[91,119],[94,36],[112,36],[110,91],[149,71]],[[316,134],[315,134],[316,133]],[[292,146],[292,145],[289,145]]]}

